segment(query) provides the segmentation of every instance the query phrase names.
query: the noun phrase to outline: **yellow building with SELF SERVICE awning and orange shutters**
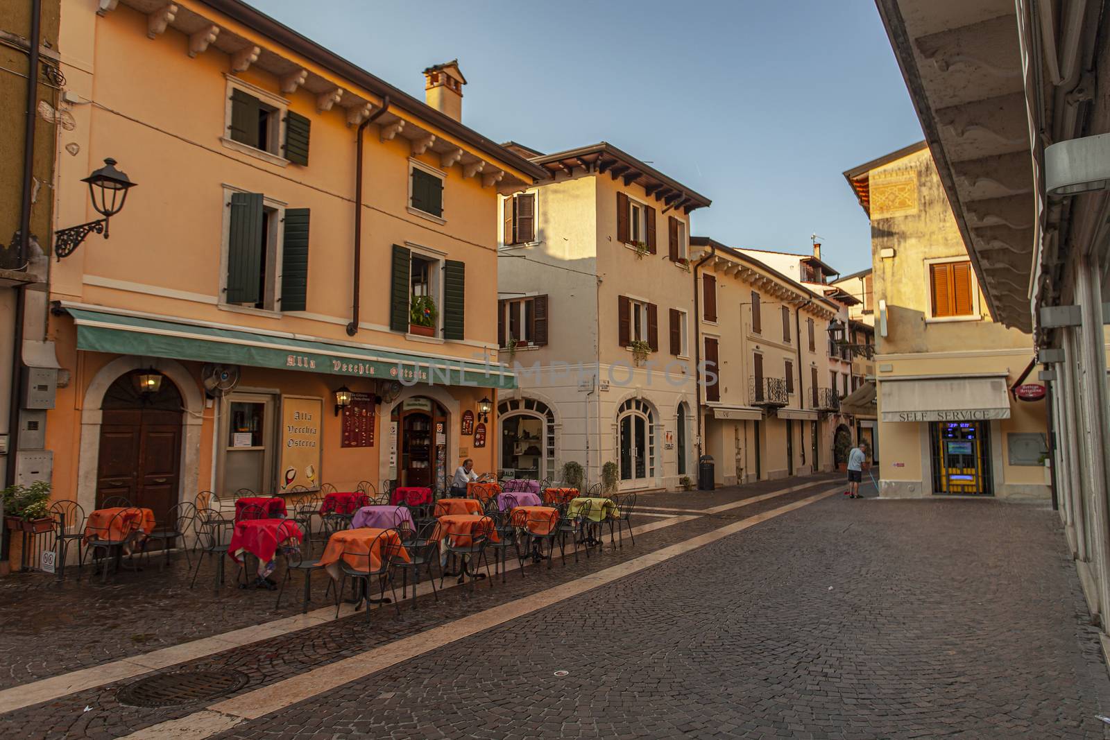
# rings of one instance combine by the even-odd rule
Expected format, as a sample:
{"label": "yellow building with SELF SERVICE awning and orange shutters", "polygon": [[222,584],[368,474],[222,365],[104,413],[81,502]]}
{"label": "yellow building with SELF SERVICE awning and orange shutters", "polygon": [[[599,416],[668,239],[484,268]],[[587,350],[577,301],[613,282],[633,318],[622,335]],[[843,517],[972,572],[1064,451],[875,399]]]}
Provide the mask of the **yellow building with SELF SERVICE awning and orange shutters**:
{"label": "yellow building with SELF SERVICE awning and orange shutters", "polygon": [[871,220],[880,494],[1047,500],[1032,337],[987,310],[925,142],[845,176]]}

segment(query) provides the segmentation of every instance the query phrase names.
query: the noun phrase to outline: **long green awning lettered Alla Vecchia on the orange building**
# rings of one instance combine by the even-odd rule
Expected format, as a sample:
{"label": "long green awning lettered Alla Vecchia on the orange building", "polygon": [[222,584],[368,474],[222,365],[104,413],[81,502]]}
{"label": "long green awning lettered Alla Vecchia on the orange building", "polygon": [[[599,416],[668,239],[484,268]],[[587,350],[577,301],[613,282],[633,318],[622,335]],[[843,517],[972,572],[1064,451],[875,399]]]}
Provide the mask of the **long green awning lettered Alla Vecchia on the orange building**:
{"label": "long green awning lettered Alla Vecchia on the orange building", "polygon": [[407,385],[516,387],[512,371],[498,364],[426,357],[289,335],[258,334],[184,320],[124,316],[69,306],[65,311],[73,316],[77,325],[78,349],[89,352],[373,377],[401,381]]}

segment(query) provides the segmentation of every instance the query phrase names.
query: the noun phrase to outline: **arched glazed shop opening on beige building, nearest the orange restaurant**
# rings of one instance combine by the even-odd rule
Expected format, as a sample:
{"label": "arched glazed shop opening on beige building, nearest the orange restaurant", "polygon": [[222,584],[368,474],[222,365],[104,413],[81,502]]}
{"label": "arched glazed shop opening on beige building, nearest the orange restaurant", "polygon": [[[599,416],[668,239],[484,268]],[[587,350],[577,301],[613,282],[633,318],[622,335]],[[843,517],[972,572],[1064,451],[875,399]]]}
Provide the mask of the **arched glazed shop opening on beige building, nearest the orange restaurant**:
{"label": "arched glazed shop opening on beige building, nearest the orange restaurant", "polygon": [[503,476],[509,478],[555,477],[555,414],[535,398],[513,398],[497,404],[501,425]]}

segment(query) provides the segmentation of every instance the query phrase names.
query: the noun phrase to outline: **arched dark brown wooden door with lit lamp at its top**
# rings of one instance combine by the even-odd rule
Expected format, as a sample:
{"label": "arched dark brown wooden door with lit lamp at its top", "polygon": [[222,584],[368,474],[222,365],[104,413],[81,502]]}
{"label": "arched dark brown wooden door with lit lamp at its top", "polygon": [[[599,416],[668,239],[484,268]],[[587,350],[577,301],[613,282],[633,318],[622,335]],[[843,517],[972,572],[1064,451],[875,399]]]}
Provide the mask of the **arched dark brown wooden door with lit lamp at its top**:
{"label": "arched dark brown wooden door with lit lamp at its top", "polygon": [[161,373],[137,369],[112,383],[101,408],[95,507],[122,496],[161,521],[180,490],[181,392]]}

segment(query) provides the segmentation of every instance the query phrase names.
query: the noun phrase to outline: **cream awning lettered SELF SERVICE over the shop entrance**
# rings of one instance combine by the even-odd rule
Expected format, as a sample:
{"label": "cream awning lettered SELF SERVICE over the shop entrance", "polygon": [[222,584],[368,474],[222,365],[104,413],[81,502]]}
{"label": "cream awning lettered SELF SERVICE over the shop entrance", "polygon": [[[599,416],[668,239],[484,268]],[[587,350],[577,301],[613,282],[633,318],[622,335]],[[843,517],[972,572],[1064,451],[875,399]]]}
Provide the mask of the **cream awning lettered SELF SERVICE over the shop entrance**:
{"label": "cream awning lettered SELF SERVICE over the shop entrance", "polygon": [[1006,375],[879,378],[884,422],[979,422],[1010,418]]}

